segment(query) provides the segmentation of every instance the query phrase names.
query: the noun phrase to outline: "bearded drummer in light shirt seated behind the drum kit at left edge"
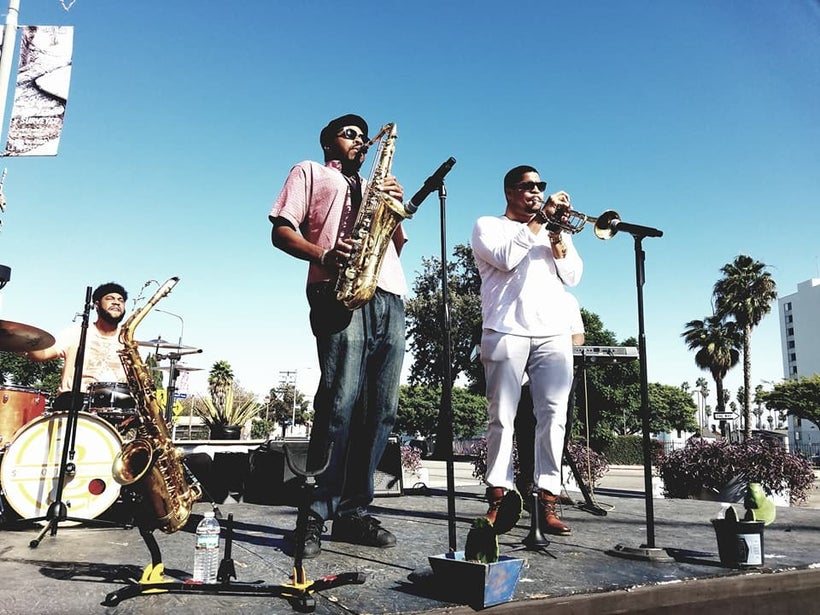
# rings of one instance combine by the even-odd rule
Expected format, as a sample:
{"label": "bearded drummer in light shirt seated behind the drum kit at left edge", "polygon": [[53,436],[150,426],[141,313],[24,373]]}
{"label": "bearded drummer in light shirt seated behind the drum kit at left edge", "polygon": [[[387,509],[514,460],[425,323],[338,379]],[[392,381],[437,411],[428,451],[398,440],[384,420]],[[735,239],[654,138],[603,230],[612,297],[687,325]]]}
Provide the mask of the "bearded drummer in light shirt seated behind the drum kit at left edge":
{"label": "bearded drummer in light shirt seated behind the drum kit at left edge", "polygon": [[[118,351],[120,343],[119,325],[125,317],[125,301],[128,293],[116,282],[101,284],[91,295],[97,320],[88,327],[83,355],[82,385],[80,392],[88,390],[93,382],[126,382],[125,370]],[[32,361],[50,361],[63,358],[63,372],[60,377],[58,396],[54,400],[54,410],[71,407],[70,393],[74,385],[74,362],[80,345],[80,324],[69,327],[56,337],[50,348],[23,352]]]}

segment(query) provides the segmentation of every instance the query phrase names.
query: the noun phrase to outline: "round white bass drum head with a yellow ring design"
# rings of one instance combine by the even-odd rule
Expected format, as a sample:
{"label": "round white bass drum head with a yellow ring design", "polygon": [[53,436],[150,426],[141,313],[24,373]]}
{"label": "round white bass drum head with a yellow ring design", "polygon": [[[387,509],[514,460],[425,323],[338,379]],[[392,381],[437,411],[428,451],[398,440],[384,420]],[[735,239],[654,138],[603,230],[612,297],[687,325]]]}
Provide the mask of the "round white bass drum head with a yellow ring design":
{"label": "round white bass drum head with a yellow ring design", "polygon": [[[8,504],[23,519],[45,517],[57,497],[67,419],[67,413],[57,413],[32,421],[17,432],[3,455],[0,485]],[[65,474],[62,501],[69,517],[94,519],[119,497],[120,485],[111,468],[122,440],[103,419],[79,412],[74,442],[76,472]]]}

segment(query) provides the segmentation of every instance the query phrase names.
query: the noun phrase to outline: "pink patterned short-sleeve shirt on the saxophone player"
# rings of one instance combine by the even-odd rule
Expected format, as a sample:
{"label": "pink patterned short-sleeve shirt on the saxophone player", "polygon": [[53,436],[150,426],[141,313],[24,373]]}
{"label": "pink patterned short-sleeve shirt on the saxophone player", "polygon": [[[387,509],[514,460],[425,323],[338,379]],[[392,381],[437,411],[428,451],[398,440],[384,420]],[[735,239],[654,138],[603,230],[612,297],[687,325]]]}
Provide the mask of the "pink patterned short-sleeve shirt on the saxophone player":
{"label": "pink patterned short-sleeve shirt on the saxophone player", "polygon": [[[362,184],[364,190],[365,182]],[[305,239],[324,250],[331,250],[336,245],[339,229],[350,227],[343,222],[355,215],[341,164],[336,160],[325,165],[306,160],[291,169],[268,218],[271,222],[278,217],[284,218],[299,229]],[[407,238],[399,225],[379,272],[379,288],[396,295],[407,294],[407,282],[396,250],[396,245],[401,246],[405,241]],[[335,281],[336,277],[334,268],[310,263],[307,283]]]}

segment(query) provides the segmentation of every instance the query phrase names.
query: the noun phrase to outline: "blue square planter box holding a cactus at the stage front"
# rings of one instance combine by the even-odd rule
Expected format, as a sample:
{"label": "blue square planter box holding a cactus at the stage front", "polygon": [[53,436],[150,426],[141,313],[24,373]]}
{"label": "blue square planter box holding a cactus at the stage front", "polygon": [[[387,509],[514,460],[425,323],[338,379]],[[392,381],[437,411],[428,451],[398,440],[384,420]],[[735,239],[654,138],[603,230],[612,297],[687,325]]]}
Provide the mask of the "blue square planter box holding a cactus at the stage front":
{"label": "blue square planter box holding a cactus at the stage front", "polygon": [[464,551],[428,558],[436,585],[459,604],[484,608],[508,602],[518,585],[523,559],[502,555],[497,562],[480,564],[464,559]]}

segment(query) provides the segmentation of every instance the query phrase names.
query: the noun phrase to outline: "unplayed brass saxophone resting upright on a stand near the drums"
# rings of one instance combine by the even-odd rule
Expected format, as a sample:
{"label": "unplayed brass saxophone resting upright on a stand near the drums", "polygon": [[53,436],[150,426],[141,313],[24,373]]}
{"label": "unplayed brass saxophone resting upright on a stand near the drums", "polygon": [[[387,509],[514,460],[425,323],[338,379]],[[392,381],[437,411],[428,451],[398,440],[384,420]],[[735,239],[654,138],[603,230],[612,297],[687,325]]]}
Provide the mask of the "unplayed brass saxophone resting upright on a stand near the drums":
{"label": "unplayed brass saxophone resting upright on a stand near the drums", "polygon": [[184,453],[173,445],[150,371],[139,355],[139,345],[134,342],[134,330],[177,282],[176,277],[165,282],[120,329],[123,348],[118,352],[128,388],[136,401],[140,426],[136,437],[123,445],[112,468],[114,480],[121,485],[139,481],[140,492],[157,519],[157,527],[166,534],[185,525],[194,502],[202,497],[202,487],[196,482],[188,483],[182,465]]}

